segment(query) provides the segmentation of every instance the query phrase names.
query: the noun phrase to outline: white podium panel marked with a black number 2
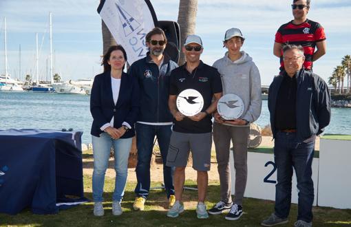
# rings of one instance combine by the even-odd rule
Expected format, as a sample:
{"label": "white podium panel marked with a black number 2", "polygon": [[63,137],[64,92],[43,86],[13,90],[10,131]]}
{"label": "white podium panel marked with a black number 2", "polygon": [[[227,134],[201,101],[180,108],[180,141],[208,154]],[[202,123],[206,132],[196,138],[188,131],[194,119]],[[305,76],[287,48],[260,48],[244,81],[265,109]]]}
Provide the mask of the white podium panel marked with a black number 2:
{"label": "white podium panel marked with a black number 2", "polygon": [[[235,169],[233,152],[230,154],[231,165],[231,193],[235,194]],[[317,206],[319,158],[313,158],[312,180],[315,189],[315,200],[313,206]],[[275,184],[277,183],[277,169],[274,163],[273,153],[248,152],[248,177],[246,183],[245,197],[257,199],[275,200]],[[297,204],[297,181],[292,175],[292,197],[291,202]]]}

